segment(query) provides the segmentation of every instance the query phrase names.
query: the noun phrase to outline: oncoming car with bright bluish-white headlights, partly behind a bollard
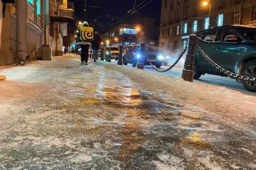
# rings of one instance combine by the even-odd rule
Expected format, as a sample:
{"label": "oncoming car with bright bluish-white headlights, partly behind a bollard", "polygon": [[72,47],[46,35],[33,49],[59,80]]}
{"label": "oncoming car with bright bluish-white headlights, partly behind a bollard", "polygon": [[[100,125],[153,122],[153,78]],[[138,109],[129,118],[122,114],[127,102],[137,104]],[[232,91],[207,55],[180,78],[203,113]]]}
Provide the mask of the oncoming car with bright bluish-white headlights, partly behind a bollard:
{"label": "oncoming car with bright bluish-white headlights, partly behind a bollard", "polygon": [[[144,64],[150,65],[150,62],[154,64],[157,68],[160,68],[164,62],[164,57],[159,50],[154,50],[149,46],[146,46],[146,53],[147,57],[145,57]],[[127,51],[124,53],[123,56],[123,63],[126,66],[128,63],[132,64],[133,67],[136,67],[138,64],[138,60],[141,57],[140,53],[140,46],[129,46]]]}

